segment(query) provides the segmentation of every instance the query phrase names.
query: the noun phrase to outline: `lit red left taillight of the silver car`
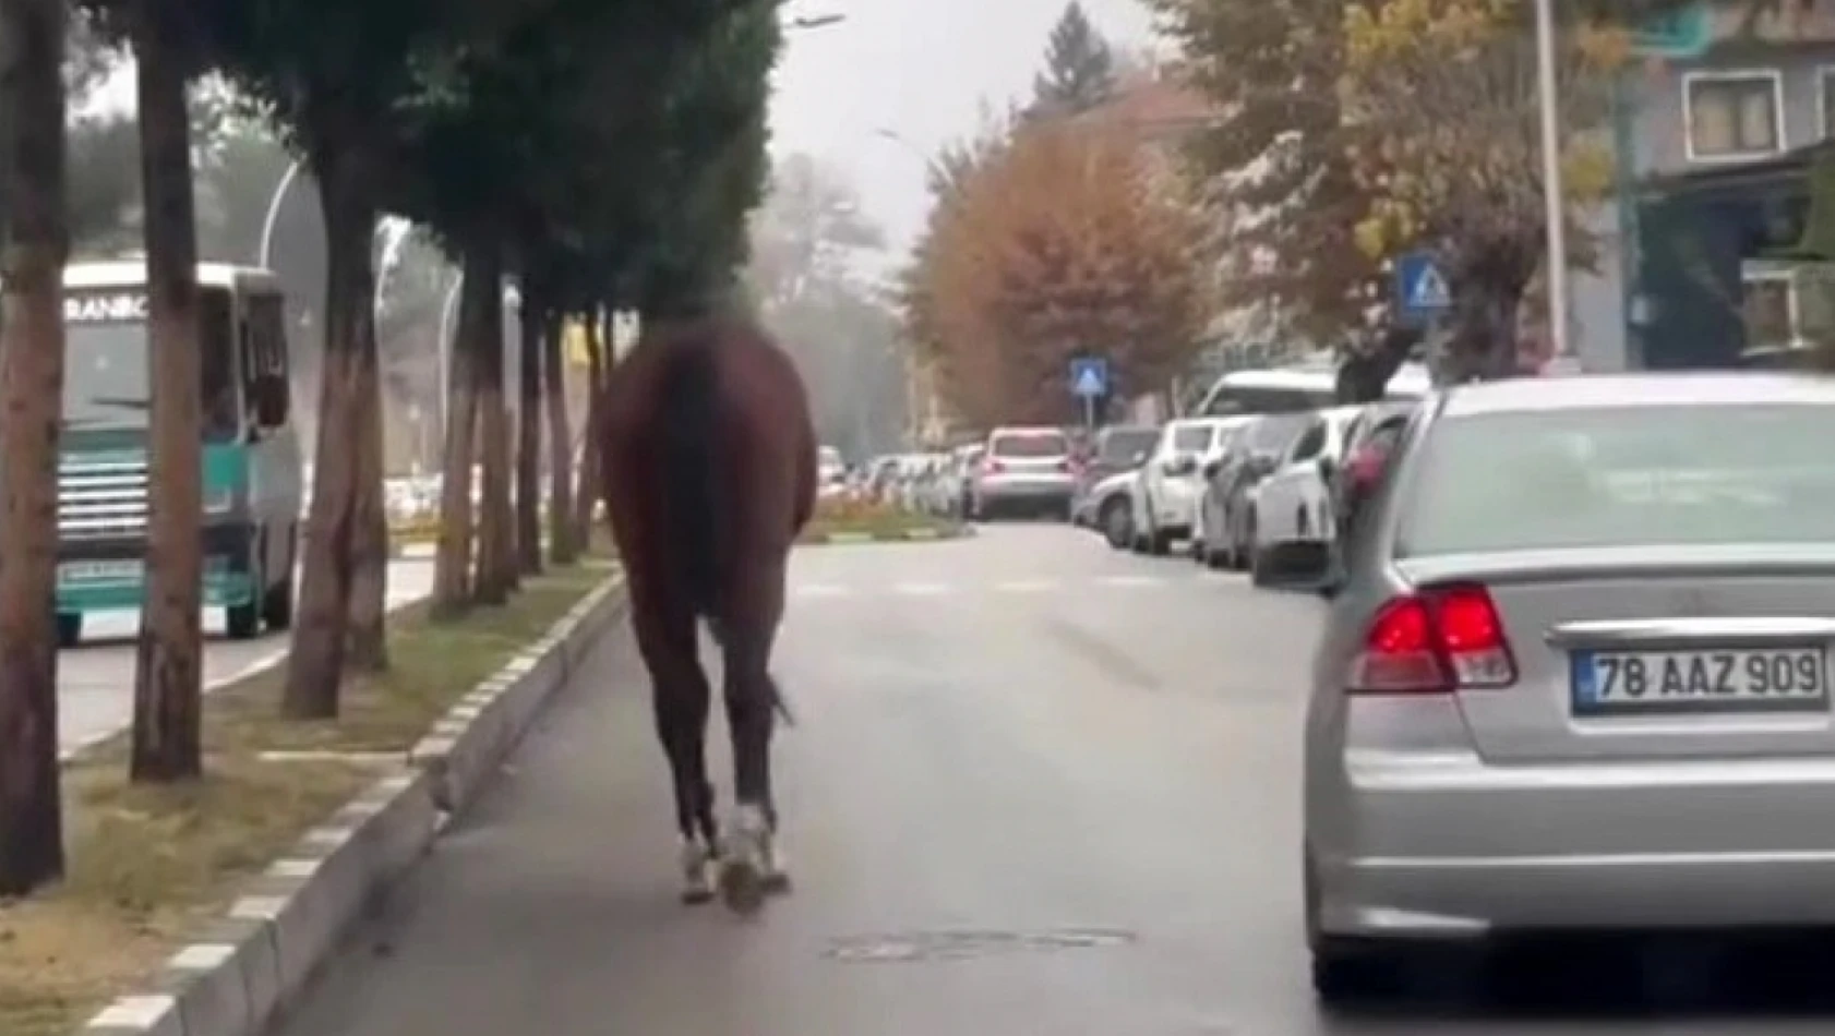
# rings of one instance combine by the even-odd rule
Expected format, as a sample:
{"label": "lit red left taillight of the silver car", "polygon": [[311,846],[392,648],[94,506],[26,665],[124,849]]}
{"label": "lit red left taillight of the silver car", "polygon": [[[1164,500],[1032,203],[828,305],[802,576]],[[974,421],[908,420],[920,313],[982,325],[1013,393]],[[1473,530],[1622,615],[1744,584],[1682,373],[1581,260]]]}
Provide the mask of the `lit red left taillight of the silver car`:
{"label": "lit red left taillight of the silver car", "polygon": [[1516,658],[1485,587],[1435,587],[1385,601],[1351,660],[1354,695],[1451,693],[1516,684]]}

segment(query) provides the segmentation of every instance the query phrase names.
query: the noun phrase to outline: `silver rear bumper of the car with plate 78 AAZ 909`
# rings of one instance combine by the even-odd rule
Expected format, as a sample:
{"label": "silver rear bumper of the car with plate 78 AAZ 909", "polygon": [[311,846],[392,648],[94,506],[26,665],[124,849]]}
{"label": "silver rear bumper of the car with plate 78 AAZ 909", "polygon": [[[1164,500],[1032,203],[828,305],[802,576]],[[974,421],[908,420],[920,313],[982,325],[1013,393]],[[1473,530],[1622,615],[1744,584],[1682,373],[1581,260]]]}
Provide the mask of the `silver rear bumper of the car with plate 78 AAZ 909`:
{"label": "silver rear bumper of the car with plate 78 AAZ 909", "polygon": [[1835,761],[1362,759],[1330,799],[1327,933],[1835,924]]}

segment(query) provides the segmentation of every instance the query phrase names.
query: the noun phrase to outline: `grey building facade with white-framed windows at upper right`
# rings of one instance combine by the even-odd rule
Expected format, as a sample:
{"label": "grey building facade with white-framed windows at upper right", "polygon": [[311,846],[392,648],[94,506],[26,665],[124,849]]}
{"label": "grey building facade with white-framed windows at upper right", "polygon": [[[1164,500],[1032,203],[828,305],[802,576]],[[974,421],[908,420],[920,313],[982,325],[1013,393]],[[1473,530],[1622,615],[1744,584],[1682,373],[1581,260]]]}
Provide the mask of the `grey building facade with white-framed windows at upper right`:
{"label": "grey building facade with white-framed windows at upper right", "polygon": [[1824,323],[1822,270],[1787,253],[1835,136],[1835,11],[1747,7],[1653,26],[1615,84],[1618,185],[1587,226],[1596,270],[1571,275],[1589,370],[1736,365]]}

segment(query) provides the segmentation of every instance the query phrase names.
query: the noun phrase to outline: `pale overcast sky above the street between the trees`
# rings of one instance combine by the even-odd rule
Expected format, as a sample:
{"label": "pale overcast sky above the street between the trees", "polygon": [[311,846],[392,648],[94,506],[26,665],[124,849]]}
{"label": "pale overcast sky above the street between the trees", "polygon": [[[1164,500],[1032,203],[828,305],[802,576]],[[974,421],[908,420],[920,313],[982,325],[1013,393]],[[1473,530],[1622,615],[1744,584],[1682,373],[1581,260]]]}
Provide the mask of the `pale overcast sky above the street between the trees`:
{"label": "pale overcast sky above the street between the trees", "polygon": [[[1123,50],[1149,42],[1138,0],[1083,0],[1097,31]],[[795,0],[791,17],[846,13],[793,31],[771,106],[773,150],[835,165],[868,216],[903,253],[923,227],[929,154],[974,132],[980,101],[996,108],[1031,90],[1064,0]],[[877,136],[890,128],[910,147]]]}

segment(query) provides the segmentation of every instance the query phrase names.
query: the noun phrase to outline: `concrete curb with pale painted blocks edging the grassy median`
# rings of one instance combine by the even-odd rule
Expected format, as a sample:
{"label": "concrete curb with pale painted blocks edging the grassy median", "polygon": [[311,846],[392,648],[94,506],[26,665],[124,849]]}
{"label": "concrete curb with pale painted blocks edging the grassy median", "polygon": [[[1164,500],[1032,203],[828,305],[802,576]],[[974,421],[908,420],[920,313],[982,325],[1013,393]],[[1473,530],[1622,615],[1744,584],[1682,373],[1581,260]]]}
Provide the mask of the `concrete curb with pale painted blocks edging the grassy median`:
{"label": "concrete curb with pale painted blocks edging the grassy median", "polygon": [[224,917],[143,992],[117,997],[90,1036],[261,1036],[339,939],[462,812],[541,706],[624,614],[613,574],[495,677],[455,704],[378,779],[253,878]]}

